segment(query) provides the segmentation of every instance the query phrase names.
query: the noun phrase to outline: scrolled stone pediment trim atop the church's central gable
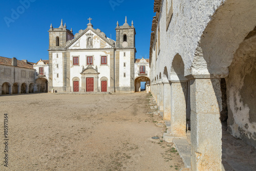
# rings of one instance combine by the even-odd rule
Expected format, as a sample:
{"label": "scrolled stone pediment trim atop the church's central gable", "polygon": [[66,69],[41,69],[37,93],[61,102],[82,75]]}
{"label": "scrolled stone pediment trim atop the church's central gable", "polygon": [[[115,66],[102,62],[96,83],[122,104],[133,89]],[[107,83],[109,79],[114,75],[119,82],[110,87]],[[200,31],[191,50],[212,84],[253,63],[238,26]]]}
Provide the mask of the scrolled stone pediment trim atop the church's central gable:
{"label": "scrolled stone pediment trim atop the church's central gable", "polygon": [[107,44],[109,44],[112,48],[115,47],[115,41],[106,37],[105,33],[101,32],[100,29],[93,29],[91,26],[88,26],[85,30],[79,30],[78,33],[75,34],[74,39],[68,40],[66,42],[66,49],[73,45],[81,36],[85,35],[93,35],[93,33],[88,33],[91,30],[93,33],[98,35],[101,39],[103,39]]}

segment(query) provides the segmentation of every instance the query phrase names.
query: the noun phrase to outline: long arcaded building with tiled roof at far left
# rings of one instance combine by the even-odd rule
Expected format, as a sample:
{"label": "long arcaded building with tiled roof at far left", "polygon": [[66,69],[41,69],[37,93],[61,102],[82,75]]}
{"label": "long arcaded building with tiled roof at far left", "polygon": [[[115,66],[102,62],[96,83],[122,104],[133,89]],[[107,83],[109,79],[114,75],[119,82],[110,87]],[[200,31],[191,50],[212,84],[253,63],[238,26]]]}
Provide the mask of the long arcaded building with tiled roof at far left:
{"label": "long arcaded building with tiled roof at far left", "polygon": [[0,95],[33,93],[35,88],[34,63],[0,56]]}

